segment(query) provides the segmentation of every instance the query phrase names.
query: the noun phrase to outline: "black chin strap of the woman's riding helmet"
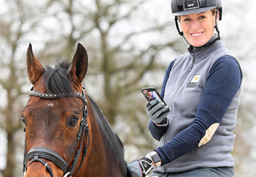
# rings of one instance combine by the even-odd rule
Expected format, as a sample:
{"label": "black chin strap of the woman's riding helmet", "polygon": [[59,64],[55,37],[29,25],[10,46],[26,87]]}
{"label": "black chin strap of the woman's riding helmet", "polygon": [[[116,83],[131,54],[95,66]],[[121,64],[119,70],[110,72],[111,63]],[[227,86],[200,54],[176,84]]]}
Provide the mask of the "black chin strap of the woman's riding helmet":
{"label": "black chin strap of the woman's riding helmet", "polygon": [[180,36],[182,36],[182,37],[184,38],[184,40],[187,42],[187,44],[189,44],[189,45],[192,46],[193,48],[201,48],[201,47],[206,47],[206,46],[209,46],[209,45],[211,45],[211,44],[214,44],[216,41],[218,41],[218,40],[221,39],[221,37],[220,37],[220,31],[219,31],[218,23],[217,23],[217,20],[218,20],[217,16],[218,16],[219,10],[218,10],[218,8],[216,8],[216,9],[217,9],[217,10],[216,10],[215,26],[214,26],[214,28],[216,29],[218,36],[217,36],[217,38],[215,38],[212,42],[206,43],[206,44],[204,44],[204,45],[202,45],[202,46],[198,46],[198,47],[189,44],[189,42],[187,41],[187,39],[186,39],[185,36],[184,36],[183,31],[180,31],[180,30],[179,30],[179,23],[178,23],[179,19],[178,19],[177,16],[175,16],[175,19],[174,19],[174,20],[175,20],[175,24],[176,24],[176,28],[177,28],[177,30],[178,30],[178,33],[179,33]]}

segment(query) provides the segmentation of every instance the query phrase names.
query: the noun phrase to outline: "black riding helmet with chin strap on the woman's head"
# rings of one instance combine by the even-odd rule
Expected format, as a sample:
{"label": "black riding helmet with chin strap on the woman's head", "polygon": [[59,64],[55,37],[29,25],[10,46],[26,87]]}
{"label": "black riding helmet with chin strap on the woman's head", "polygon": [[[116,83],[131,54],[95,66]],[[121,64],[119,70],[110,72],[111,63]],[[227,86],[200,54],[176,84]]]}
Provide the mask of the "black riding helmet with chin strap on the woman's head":
{"label": "black riding helmet with chin strap on the woman's head", "polygon": [[214,27],[218,33],[218,38],[216,38],[210,44],[213,44],[217,40],[220,40],[220,32],[217,26],[217,15],[218,15],[218,12],[220,12],[219,20],[221,20],[222,19],[221,0],[172,0],[171,7],[172,7],[172,14],[175,16],[176,27],[179,32],[179,35],[183,36],[186,42],[187,40],[184,37],[183,32],[179,30],[178,16],[205,12],[205,11],[216,8],[217,9],[216,17],[215,17],[216,25]]}

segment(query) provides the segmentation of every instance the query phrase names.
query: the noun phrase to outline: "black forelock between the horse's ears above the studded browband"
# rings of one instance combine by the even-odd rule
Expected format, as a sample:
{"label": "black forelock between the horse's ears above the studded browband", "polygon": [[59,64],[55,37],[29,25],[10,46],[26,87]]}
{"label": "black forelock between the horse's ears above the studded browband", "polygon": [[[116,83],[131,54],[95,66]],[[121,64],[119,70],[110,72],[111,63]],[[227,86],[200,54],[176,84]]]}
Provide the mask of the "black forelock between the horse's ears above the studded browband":
{"label": "black forelock between the horse's ears above the studded browband", "polygon": [[55,67],[46,66],[46,72],[43,75],[45,78],[45,86],[47,93],[71,93],[72,80],[69,74],[71,63],[67,61],[57,62]]}

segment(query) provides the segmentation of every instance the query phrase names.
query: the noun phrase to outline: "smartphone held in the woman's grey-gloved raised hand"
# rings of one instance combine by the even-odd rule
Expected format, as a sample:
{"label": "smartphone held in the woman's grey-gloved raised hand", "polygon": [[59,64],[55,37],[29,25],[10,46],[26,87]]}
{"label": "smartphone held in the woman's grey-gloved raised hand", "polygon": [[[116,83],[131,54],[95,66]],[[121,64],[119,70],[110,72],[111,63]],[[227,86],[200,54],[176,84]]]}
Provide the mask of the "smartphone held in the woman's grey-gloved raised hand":
{"label": "smartphone held in the woman's grey-gloved raised hand", "polygon": [[[167,104],[164,102],[164,100],[162,99],[162,97],[160,96],[156,88],[154,87],[141,88],[141,92],[145,96],[145,98],[148,100],[148,102],[152,100],[156,100],[157,103],[163,102],[167,106]],[[169,111],[169,108],[164,112],[168,112],[168,111]]]}

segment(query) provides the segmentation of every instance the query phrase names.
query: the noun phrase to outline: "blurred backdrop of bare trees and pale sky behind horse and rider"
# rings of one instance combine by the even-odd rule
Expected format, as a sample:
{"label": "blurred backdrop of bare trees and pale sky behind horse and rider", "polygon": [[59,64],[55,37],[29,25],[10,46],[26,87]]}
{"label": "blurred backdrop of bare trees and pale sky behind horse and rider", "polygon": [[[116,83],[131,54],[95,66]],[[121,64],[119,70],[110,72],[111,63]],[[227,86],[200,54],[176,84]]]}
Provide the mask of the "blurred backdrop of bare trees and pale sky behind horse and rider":
{"label": "blurred backdrop of bare trees and pale sky behind horse and rider", "polygon": [[[253,96],[256,82],[252,4],[224,1],[220,31],[244,71],[235,133],[236,174],[255,177]],[[186,52],[170,12],[169,0],[0,0],[0,174],[22,176],[24,133],[20,112],[31,84],[26,48],[46,66],[72,60],[77,43],[89,54],[84,80],[125,145],[126,160],[144,156],[157,143],[148,132],[146,100],[140,88],[161,88],[168,64]],[[251,12],[252,11],[252,12]],[[237,14],[246,14],[238,16]],[[251,12],[251,13],[250,13]],[[248,163],[250,162],[250,163]],[[242,174],[242,175],[241,175]]]}

